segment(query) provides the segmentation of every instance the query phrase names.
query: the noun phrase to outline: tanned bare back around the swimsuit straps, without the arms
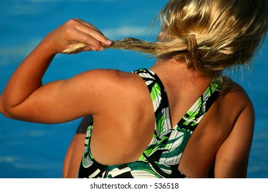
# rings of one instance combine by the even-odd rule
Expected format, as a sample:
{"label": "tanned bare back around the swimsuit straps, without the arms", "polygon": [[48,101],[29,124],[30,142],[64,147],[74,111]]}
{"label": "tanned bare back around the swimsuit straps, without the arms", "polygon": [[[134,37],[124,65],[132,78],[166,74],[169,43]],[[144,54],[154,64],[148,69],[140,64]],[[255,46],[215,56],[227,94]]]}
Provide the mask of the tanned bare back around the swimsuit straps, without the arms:
{"label": "tanned bare back around the swimsuit straps, without the arms", "polygon": [[[189,73],[188,69],[183,70],[183,68],[186,69],[183,63],[179,66],[170,61],[155,64],[152,68],[166,89],[172,128],[175,128],[175,125],[210,84],[208,78],[194,71]],[[110,71],[110,73],[113,74],[111,79],[116,82],[114,86],[119,89],[113,86],[107,88],[109,98],[104,99],[107,100],[107,105],[104,105],[106,107],[100,114],[94,115],[88,147],[96,162],[102,165],[122,165],[137,161],[152,141],[155,132],[155,112],[148,88],[139,75],[120,71]],[[172,74],[178,74],[179,77]],[[109,82],[113,82],[111,79]],[[174,79],[177,81],[174,82]],[[226,89],[226,87],[223,88],[223,92]],[[243,109],[230,105],[232,106],[231,112],[221,110],[222,106],[228,105],[226,100],[236,102],[236,99],[232,98],[234,96],[230,94],[222,93],[216,99],[211,109],[208,110],[208,114],[194,131],[189,144],[186,145],[186,151],[183,152],[183,158],[179,164],[179,171],[186,176],[207,176],[214,163],[216,152],[232,131],[236,118]],[[243,95],[241,91],[233,94]],[[230,99],[225,99],[226,97]],[[120,106],[116,105],[119,101]],[[123,114],[120,118],[118,118],[118,112]],[[229,117],[231,114],[232,116]],[[188,162],[191,164],[189,165]]]}

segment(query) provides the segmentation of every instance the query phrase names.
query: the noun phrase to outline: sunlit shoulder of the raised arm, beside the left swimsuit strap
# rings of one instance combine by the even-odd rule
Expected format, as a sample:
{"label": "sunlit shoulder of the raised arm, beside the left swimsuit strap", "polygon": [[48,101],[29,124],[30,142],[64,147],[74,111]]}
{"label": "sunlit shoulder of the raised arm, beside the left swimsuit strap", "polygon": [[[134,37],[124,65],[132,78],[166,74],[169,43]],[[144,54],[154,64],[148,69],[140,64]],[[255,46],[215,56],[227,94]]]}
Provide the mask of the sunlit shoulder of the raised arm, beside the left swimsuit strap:
{"label": "sunlit shoulder of the raised arm, beside the left swimsuit strap", "polygon": [[106,101],[118,103],[122,99],[135,100],[146,90],[146,84],[142,78],[132,72],[116,69],[93,69],[81,75],[84,76],[83,83],[86,84],[87,88],[91,89],[96,97]]}

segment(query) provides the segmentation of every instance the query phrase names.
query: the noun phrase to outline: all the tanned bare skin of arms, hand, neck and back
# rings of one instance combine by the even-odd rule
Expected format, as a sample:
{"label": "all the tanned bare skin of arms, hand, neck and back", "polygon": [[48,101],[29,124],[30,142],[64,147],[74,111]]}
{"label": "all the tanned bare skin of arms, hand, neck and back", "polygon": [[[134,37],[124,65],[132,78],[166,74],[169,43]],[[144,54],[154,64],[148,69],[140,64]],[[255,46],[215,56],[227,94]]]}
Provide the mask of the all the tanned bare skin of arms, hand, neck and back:
{"label": "all the tanned bare skin of arms, hand, neck and back", "polygon": [[[102,51],[102,44],[111,45],[85,21],[75,19],[58,27],[10,78],[0,97],[1,113],[38,123],[63,123],[92,114],[94,158],[104,165],[133,162],[150,143],[155,127],[150,94],[139,75],[96,69],[69,80],[44,86],[41,83],[56,53],[76,41],[90,45],[79,51]],[[159,59],[151,69],[166,88],[174,127],[205,91],[210,79],[188,69],[185,62],[172,59]],[[234,82],[225,80],[223,93],[194,131],[181,158],[178,169],[190,178],[203,178],[215,157],[216,178],[246,177],[254,109],[243,88]]]}

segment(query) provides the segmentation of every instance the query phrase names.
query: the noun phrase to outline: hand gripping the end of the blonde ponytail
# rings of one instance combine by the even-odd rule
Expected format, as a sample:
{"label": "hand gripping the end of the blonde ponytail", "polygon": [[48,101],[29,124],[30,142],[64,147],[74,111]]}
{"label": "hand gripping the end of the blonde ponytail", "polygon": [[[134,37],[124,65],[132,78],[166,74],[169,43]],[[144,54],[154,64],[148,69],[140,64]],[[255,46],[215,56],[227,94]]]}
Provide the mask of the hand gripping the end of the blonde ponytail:
{"label": "hand gripping the end of the blonde ponytail", "polygon": [[81,51],[103,51],[112,44],[99,29],[80,19],[71,19],[47,36],[54,53],[78,53]]}

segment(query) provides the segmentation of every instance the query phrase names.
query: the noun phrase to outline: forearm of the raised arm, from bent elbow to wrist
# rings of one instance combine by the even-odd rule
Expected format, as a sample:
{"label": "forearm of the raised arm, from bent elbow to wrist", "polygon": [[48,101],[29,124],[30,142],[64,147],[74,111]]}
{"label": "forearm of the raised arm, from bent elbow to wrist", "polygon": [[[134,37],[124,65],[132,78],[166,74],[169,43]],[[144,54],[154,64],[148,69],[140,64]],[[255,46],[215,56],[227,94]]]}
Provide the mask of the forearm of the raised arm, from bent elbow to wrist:
{"label": "forearm of the raised arm, from bent elbow to wrist", "polygon": [[55,53],[49,35],[21,62],[1,94],[1,110],[10,110],[21,104],[42,85],[42,78]]}

